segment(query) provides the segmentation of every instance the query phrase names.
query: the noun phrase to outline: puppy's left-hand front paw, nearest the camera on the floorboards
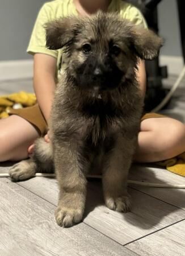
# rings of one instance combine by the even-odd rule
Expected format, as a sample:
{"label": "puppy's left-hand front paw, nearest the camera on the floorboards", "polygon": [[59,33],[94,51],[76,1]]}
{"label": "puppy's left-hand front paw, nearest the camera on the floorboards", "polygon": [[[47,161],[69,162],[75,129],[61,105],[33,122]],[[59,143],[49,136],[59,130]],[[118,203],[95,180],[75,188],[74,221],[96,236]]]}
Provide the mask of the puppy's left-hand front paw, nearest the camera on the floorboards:
{"label": "puppy's left-hand front paw, nearest the camera on the floorboards", "polygon": [[82,220],[83,211],[81,209],[58,206],[54,215],[59,226],[69,228]]}

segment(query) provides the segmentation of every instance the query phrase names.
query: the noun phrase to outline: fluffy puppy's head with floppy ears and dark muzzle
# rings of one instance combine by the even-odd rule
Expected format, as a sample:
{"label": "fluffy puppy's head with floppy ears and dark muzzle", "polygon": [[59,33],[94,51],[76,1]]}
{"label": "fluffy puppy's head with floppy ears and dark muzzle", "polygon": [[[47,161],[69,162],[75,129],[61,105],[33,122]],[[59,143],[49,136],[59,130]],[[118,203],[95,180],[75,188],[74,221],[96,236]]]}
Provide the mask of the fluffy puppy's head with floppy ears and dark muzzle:
{"label": "fluffy puppy's head with floppy ears and dark muzzle", "polygon": [[49,49],[65,47],[68,76],[90,90],[113,89],[132,79],[138,59],[154,59],[162,46],[154,32],[102,12],[49,22],[46,39]]}

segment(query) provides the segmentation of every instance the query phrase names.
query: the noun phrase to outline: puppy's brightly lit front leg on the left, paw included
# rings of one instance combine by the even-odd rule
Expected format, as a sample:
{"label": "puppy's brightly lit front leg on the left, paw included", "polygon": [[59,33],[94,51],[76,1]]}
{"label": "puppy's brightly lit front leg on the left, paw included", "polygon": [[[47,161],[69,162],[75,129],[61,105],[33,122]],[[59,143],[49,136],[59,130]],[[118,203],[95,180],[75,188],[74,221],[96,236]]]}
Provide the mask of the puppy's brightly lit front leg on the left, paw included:
{"label": "puppy's brightly lit front leg on the left, paw included", "polygon": [[60,187],[57,224],[69,227],[82,220],[86,201],[87,161],[77,144],[62,142],[54,145],[54,167]]}

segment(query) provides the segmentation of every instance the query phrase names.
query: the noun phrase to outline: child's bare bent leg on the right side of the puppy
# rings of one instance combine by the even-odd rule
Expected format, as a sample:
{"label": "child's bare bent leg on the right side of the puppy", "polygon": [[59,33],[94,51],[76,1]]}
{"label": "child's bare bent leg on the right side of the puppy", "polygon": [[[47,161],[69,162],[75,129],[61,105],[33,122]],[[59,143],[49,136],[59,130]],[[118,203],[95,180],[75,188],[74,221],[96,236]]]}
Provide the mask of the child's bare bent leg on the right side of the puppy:
{"label": "child's bare bent leg on the right side of the puppy", "polygon": [[185,126],[167,117],[149,118],[141,122],[136,162],[157,162],[185,151]]}

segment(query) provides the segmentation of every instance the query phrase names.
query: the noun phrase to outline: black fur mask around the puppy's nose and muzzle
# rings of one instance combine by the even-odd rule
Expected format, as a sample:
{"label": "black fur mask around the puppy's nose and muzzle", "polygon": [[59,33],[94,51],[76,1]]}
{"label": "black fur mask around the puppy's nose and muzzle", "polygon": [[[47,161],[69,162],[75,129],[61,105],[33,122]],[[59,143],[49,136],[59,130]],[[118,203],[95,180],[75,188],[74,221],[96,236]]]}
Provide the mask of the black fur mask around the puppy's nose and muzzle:
{"label": "black fur mask around the puppy's nose and muzzle", "polygon": [[[88,45],[91,44],[88,43]],[[74,65],[77,84],[83,88],[94,90],[116,88],[123,79],[124,71],[117,67],[116,60],[110,52],[97,52],[96,50],[93,52],[95,45],[92,44],[91,47],[91,51],[84,52],[85,61],[77,68]],[[99,57],[100,55],[102,55],[102,58]]]}

